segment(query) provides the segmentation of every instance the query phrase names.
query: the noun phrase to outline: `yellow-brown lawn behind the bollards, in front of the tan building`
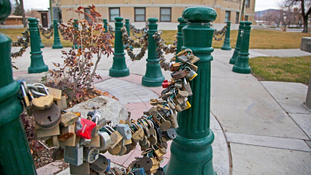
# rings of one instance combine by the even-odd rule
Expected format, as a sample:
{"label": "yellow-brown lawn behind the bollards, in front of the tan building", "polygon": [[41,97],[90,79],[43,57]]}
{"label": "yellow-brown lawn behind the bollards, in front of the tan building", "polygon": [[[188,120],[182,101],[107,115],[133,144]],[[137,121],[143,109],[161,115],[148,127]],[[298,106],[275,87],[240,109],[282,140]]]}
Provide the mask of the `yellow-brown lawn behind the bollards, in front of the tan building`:
{"label": "yellow-brown lawn behind the bollards, in front of the tan building", "polygon": [[[17,36],[21,36],[25,28],[22,29],[0,29],[0,32],[9,35],[13,41],[17,40]],[[174,40],[174,35],[177,31],[163,31],[162,38],[165,40],[166,44],[172,44]],[[230,33],[231,47],[234,48],[238,31],[233,30]],[[137,35],[139,36],[139,34]],[[44,38],[42,35],[42,43],[45,47],[52,47],[53,37],[50,39]],[[311,37],[311,33],[295,33],[295,32],[283,32],[283,31],[268,31],[254,29],[251,31],[250,35],[250,49],[295,49],[300,48],[301,37]],[[132,36],[133,38],[133,36]],[[64,47],[71,47],[72,43],[70,41],[64,40],[60,36],[61,43]],[[223,40],[216,41],[213,40],[212,46],[214,48],[221,48],[223,45]]]}

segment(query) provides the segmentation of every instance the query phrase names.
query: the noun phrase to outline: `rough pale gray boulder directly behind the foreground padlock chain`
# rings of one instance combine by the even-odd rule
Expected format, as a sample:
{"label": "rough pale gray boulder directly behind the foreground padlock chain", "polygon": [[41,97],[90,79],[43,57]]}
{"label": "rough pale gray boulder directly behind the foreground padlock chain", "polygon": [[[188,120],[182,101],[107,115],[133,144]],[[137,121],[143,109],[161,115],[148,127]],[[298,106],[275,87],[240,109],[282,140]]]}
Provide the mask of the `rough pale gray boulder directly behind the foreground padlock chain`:
{"label": "rough pale gray boulder directly behind the foreground padlock chain", "polygon": [[86,118],[89,111],[98,110],[106,120],[114,121],[118,124],[120,119],[128,118],[128,111],[123,104],[117,100],[106,96],[92,98],[86,102],[79,103],[66,111],[81,112],[81,117]]}

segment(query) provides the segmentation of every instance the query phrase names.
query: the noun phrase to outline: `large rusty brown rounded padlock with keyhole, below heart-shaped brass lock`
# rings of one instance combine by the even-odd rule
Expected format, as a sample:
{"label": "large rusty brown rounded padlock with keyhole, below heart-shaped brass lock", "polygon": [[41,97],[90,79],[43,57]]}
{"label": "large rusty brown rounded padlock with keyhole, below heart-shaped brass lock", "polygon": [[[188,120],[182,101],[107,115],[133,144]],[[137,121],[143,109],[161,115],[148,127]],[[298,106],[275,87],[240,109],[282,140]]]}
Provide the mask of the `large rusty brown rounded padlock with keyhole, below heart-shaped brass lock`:
{"label": "large rusty brown rounded padlock with keyhole, below heart-shaped brass lock", "polygon": [[52,103],[51,107],[44,110],[32,108],[35,121],[41,128],[50,129],[58,125],[61,121],[60,109]]}

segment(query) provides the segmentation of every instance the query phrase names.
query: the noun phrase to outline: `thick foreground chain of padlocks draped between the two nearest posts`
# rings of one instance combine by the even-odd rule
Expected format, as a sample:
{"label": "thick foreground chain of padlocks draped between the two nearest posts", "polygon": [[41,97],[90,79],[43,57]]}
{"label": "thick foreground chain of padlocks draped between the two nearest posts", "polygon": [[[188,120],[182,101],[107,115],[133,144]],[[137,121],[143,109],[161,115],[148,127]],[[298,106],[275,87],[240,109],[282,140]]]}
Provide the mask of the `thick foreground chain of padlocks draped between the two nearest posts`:
{"label": "thick foreground chain of padlocks draped between the two nearest posts", "polygon": [[[28,115],[35,119],[36,138],[46,143],[50,140],[55,149],[64,147],[64,161],[69,163],[71,174],[164,175],[160,163],[164,162],[167,141],[176,137],[177,112],[191,107],[189,81],[197,76],[194,63],[199,60],[190,49],[177,56],[182,62],[170,63],[172,79],[162,83],[165,89],[159,99],[150,100],[153,107],[137,121],[120,120],[117,125],[97,110],[90,111],[86,119],[79,112],[61,110],[66,108],[61,90],[20,81],[21,99]],[[122,156],[136,149],[137,144],[142,157],[135,157],[127,168],[111,168],[110,160],[103,155],[108,151]]]}

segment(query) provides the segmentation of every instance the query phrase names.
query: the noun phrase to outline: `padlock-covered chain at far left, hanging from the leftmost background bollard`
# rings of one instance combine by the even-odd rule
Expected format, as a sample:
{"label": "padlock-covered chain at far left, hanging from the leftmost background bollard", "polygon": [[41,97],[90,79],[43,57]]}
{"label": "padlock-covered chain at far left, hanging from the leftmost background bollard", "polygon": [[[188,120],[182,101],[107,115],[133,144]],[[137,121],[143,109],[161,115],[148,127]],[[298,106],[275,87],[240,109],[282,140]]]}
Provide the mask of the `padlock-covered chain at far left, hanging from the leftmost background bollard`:
{"label": "padlock-covered chain at far left, hanging from the leftmost background bollard", "polygon": [[22,37],[17,37],[18,40],[12,42],[12,44],[11,44],[11,46],[13,46],[13,47],[22,46],[22,48],[19,51],[11,53],[12,58],[16,58],[16,57],[21,56],[26,51],[26,49],[28,48],[28,43],[30,42],[30,36],[28,33],[28,29],[26,29],[21,34],[23,34]]}

